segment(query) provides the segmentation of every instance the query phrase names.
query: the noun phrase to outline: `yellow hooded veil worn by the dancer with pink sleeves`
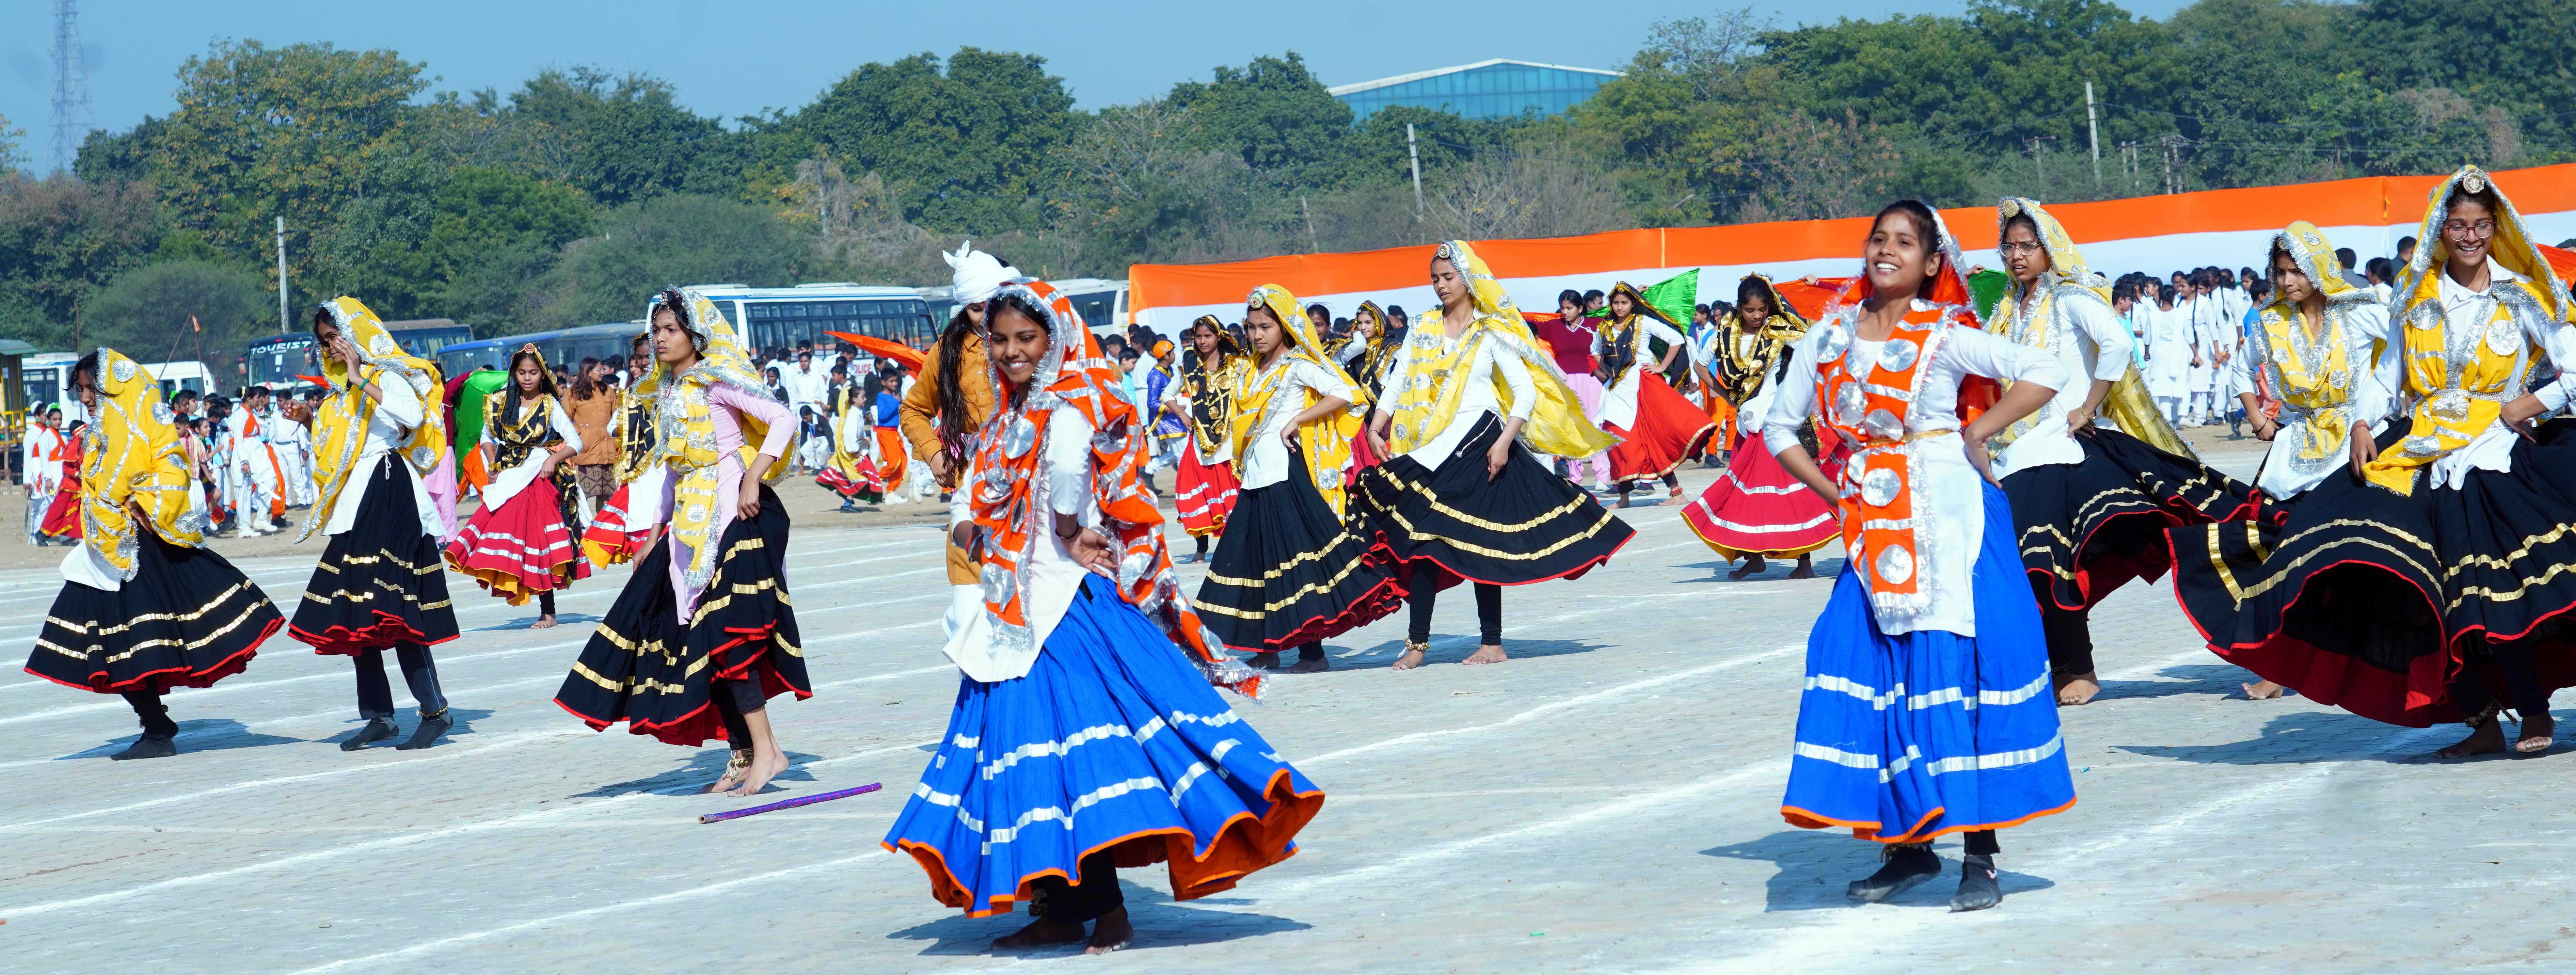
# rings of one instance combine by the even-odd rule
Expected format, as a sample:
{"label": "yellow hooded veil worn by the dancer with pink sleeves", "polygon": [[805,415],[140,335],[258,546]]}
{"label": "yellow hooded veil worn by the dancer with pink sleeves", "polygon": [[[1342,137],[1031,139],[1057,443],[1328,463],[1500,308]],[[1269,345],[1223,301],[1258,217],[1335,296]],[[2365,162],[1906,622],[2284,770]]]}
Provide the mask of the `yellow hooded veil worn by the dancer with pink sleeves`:
{"label": "yellow hooded veil worn by the dancer with pink sleeves", "polygon": [[[690,342],[698,347],[698,363],[672,376],[670,363],[654,358],[652,373],[636,381],[634,396],[654,404],[652,463],[665,463],[672,473],[670,533],[690,551],[688,584],[706,587],[716,576],[719,553],[711,545],[714,538],[708,538],[708,530],[721,515],[716,512],[716,478],[724,463],[716,453],[716,406],[706,399],[706,391],[721,383],[739,394],[770,399],[770,386],[752,368],[742,337],[734,334],[734,327],[724,322],[716,304],[698,293],[698,288],[657,293],[654,304],[644,311],[644,322],[652,322],[659,309],[680,311],[680,327],[688,329]],[[757,445],[768,437],[770,427],[750,414],[737,419],[742,424],[742,450],[737,455],[750,466],[752,453],[760,450]],[[786,476],[786,463],[773,463],[762,473],[762,481],[775,484]]]}

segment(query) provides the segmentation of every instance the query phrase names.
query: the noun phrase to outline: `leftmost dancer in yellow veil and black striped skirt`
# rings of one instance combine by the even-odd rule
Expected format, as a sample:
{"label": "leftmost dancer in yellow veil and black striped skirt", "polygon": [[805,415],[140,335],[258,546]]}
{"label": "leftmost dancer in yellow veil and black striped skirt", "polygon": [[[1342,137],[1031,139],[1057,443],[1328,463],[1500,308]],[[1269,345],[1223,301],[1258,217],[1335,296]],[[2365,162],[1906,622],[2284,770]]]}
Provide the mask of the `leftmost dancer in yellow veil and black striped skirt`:
{"label": "leftmost dancer in yellow veil and black striped skirt", "polygon": [[100,347],[72,363],[72,391],[93,417],[80,450],[85,525],[26,671],[126,697],[144,731],[111,759],[173,756],[178,723],[162,692],[240,674],[286,620],[224,556],[198,548],[206,497],[160,383]]}

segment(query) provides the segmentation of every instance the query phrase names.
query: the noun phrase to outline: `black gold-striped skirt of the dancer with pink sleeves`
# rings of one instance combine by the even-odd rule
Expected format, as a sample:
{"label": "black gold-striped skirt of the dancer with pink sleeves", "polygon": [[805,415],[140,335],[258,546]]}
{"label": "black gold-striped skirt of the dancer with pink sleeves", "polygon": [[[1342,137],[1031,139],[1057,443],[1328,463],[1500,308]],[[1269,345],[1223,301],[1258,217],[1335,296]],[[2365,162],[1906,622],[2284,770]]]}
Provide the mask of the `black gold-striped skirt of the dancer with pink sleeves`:
{"label": "black gold-striped skirt of the dancer with pink sleeves", "polygon": [[760,682],[760,697],[814,697],[788,605],[788,509],[778,494],[762,486],[760,517],[737,517],[716,545],[716,574],[683,625],[662,535],[636,561],[554,702],[592,731],[623,720],[631,733],[696,749],[724,741],[716,679]]}

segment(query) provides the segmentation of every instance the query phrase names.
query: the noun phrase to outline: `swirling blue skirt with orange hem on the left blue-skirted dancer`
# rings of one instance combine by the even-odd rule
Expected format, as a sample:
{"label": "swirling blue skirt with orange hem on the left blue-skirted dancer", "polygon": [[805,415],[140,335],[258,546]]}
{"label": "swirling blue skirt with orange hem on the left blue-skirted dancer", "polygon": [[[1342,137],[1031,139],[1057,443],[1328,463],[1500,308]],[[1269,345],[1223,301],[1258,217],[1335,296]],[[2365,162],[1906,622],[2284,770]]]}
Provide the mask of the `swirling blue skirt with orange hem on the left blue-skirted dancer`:
{"label": "swirling blue skirt with orange hem on the left blue-skirted dancer", "polygon": [[1084,579],[1025,677],[966,679],[886,834],[969,916],[1010,913],[1079,862],[1167,862],[1175,900],[1296,854],[1324,805],[1141,610]]}

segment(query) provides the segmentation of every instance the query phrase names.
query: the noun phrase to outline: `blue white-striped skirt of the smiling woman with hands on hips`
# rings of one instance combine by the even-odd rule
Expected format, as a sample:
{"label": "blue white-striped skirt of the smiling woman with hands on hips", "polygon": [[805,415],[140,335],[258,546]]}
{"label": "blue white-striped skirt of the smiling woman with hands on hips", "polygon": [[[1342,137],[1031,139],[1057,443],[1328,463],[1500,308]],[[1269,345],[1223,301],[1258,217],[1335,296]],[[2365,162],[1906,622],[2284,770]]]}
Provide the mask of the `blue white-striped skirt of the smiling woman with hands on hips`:
{"label": "blue white-striped skirt of the smiling woman with hands on hips", "polygon": [[1780,816],[1883,844],[2017,826],[2076,805],[2048,679],[2040,605],[1986,486],[1976,633],[1878,633],[1844,569],[1806,638],[1806,695]]}

